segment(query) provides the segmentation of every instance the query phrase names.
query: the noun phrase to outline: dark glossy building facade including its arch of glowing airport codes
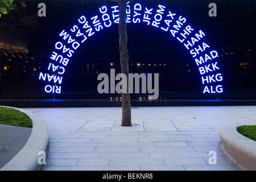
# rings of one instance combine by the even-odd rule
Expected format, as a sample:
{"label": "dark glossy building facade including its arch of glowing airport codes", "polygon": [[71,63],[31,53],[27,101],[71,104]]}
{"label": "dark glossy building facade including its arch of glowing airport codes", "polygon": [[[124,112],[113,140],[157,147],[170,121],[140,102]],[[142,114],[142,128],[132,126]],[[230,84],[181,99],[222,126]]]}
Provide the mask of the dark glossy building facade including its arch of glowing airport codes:
{"label": "dark glossy building facade including its arch of glowing airport codes", "polygon": [[[45,3],[46,16],[38,15],[39,3]],[[216,4],[217,16],[208,14],[211,9],[210,3]],[[101,82],[98,75],[106,73],[110,76],[110,69],[115,69],[115,73],[121,70],[118,24],[115,22],[117,3],[90,0],[31,0],[26,1],[26,4],[26,8],[11,11],[0,18],[2,99],[121,97],[118,93],[100,94],[97,90]],[[106,11],[105,7],[109,10]],[[104,16],[104,13],[107,15]],[[87,20],[82,17],[88,20],[87,25]],[[138,17],[141,18],[136,19]],[[157,73],[158,100],[256,99],[255,19],[256,2],[252,0],[142,0],[128,4],[127,46],[130,73]],[[79,23],[79,20],[83,24]],[[109,20],[113,25],[108,28]],[[84,28],[84,32],[79,33],[79,27],[74,27],[77,24],[89,28]],[[177,33],[170,31],[172,29]],[[76,36],[77,40],[80,39],[79,36],[83,36],[82,34],[86,35],[86,40],[84,37],[80,41],[85,43],[75,49],[75,44],[72,44],[72,39],[69,39],[68,35],[73,35],[72,38]],[[180,36],[178,40],[177,35]],[[65,36],[71,44],[63,43],[66,40]],[[182,38],[186,38],[184,42]],[[188,47],[184,46],[185,43],[187,46],[188,43],[193,43],[189,51]],[[67,46],[66,49],[64,46]],[[213,60],[213,50],[217,52],[217,61]],[[73,51],[69,52],[72,56],[68,57],[68,65],[64,65],[64,60],[56,61],[60,51]],[[51,59],[54,53],[55,60]],[[197,57],[193,57],[193,53]],[[203,57],[200,59],[200,56]],[[203,60],[206,62],[207,59],[208,64],[200,63]],[[63,68],[65,74],[58,75],[64,72]],[[218,72],[207,76],[208,72],[215,70]],[[115,84],[117,82],[118,80]],[[212,82],[207,89],[205,82]],[[53,92],[53,89],[57,92]],[[131,98],[147,100],[147,95],[132,93]]]}

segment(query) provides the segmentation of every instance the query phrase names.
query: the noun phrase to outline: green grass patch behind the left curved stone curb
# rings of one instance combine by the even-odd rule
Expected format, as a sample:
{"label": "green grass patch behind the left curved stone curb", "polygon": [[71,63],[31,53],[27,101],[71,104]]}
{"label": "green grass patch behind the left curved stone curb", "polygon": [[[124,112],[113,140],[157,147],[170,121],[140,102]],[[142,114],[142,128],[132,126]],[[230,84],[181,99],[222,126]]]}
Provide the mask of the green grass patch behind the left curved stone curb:
{"label": "green grass patch behind the left curved stone curb", "polygon": [[32,119],[27,114],[9,107],[0,107],[0,123],[22,127],[32,127]]}

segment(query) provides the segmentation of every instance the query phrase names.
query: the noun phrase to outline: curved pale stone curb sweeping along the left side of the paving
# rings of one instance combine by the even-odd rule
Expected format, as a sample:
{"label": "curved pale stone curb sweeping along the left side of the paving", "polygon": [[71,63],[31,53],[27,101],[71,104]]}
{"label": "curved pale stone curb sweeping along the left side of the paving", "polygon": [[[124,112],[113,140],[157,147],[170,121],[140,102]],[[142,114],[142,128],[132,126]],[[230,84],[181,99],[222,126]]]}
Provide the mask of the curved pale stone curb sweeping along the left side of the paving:
{"label": "curved pale stone curb sweeping along the left side of the paving", "polygon": [[44,151],[48,154],[47,126],[38,115],[23,109],[12,108],[22,111],[32,119],[32,133],[22,150],[1,168],[0,171],[38,171],[43,166],[38,163],[38,159],[41,156],[39,155],[39,151]]}

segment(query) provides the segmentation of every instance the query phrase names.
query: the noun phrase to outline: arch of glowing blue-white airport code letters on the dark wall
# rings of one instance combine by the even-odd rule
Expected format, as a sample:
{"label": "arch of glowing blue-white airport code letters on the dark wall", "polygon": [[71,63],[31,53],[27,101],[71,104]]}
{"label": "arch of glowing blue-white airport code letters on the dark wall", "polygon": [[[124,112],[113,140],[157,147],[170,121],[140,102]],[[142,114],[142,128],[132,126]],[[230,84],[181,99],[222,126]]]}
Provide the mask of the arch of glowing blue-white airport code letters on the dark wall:
{"label": "arch of glowing blue-white airport code letters on the dark wall", "polygon": [[[185,17],[166,10],[166,6],[163,5],[158,5],[157,9],[153,9],[142,6],[141,3],[129,5],[127,2],[126,13],[126,23],[147,24],[147,26],[160,28],[170,33],[178,43],[183,44],[199,69],[204,94],[223,92],[221,85],[223,78],[216,61],[218,52],[204,42],[205,32],[196,31],[189,25],[185,26],[187,22]],[[75,25],[68,30],[61,31],[60,40],[56,42],[55,50],[51,53],[47,73],[40,72],[39,74],[39,80],[48,82],[44,88],[45,92],[60,94],[65,68],[77,48],[90,36],[111,27],[114,23],[119,23],[119,7],[102,6],[98,9],[97,15],[90,18],[82,15]]]}

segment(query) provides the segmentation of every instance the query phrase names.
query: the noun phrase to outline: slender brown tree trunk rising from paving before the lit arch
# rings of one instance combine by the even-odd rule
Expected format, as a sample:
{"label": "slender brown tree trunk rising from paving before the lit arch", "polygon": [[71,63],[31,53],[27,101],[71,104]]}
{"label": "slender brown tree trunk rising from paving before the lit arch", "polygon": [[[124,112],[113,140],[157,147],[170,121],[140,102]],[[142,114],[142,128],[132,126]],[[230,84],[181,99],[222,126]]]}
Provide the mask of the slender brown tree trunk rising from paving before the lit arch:
{"label": "slender brown tree trunk rising from paving before the lit arch", "polygon": [[126,32],[126,0],[119,0],[119,52],[121,73],[126,75],[127,92],[122,92],[122,126],[131,126],[131,104],[129,94],[129,54]]}

